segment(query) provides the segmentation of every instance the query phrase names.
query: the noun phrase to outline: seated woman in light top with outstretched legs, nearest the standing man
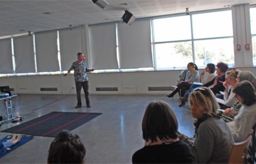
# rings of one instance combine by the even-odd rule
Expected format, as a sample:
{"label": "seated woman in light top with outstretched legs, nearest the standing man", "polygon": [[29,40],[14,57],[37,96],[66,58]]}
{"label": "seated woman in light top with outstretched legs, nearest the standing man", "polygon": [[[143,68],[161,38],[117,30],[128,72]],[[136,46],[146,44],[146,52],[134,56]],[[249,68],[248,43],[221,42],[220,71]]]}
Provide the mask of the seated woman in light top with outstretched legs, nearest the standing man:
{"label": "seated woman in light top with outstretched legs, nearest the standing man", "polygon": [[185,81],[180,81],[177,85],[177,88],[171,94],[167,95],[167,97],[173,97],[176,93],[179,92],[179,90],[180,96],[183,97],[186,90],[189,89],[193,82],[200,82],[197,66],[194,63],[189,63],[187,67],[189,71],[186,74]]}

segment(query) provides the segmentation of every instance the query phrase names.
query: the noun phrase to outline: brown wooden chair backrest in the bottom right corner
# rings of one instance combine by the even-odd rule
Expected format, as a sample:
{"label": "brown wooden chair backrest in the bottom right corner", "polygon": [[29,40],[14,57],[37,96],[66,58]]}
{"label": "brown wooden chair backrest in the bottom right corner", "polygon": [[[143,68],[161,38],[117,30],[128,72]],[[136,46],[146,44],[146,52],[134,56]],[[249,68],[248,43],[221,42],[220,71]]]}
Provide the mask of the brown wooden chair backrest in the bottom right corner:
{"label": "brown wooden chair backrest in the bottom right corner", "polygon": [[246,163],[246,155],[251,138],[252,136],[249,135],[245,141],[233,144],[228,163]]}

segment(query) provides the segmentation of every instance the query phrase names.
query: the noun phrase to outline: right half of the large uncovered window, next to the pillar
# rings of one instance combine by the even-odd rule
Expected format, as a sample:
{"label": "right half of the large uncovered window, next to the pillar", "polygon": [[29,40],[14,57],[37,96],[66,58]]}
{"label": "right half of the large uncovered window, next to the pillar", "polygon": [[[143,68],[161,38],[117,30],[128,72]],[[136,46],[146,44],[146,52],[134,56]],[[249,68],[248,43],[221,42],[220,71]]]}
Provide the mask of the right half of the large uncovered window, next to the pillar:
{"label": "right half of the large uncovered window, next to the pillar", "polygon": [[234,66],[231,11],[193,14],[192,22],[195,64],[204,67],[223,61]]}

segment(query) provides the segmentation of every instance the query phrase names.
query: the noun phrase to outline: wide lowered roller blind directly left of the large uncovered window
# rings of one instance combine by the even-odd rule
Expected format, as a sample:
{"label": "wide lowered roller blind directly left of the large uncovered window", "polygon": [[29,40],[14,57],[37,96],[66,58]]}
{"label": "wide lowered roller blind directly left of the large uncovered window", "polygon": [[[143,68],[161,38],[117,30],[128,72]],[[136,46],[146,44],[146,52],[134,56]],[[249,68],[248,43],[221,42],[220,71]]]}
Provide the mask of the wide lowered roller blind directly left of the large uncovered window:
{"label": "wide lowered roller blind directly left of the large uncovered window", "polygon": [[118,24],[120,67],[153,67],[151,52],[150,20],[138,20],[131,26]]}

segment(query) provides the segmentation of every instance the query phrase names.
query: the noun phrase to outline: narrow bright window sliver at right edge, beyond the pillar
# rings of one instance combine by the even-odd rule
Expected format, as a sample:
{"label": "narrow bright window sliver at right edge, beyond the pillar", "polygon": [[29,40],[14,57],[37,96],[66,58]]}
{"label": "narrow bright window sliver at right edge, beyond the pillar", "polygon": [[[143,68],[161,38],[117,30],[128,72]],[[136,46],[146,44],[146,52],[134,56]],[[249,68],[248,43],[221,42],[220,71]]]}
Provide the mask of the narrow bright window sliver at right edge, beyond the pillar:
{"label": "narrow bright window sliver at right edge, beyond the pillar", "polygon": [[250,9],[250,24],[252,35],[252,63],[256,66],[256,8]]}

